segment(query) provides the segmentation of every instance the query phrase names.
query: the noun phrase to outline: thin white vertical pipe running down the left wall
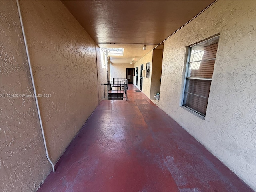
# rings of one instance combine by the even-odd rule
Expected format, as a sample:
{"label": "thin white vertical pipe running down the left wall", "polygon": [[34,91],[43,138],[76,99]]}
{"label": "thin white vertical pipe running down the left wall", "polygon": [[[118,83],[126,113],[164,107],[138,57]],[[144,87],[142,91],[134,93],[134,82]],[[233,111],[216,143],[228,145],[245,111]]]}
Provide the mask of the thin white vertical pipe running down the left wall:
{"label": "thin white vertical pipe running down the left wall", "polygon": [[39,104],[38,104],[38,100],[37,100],[36,86],[35,86],[33,72],[32,72],[32,67],[31,67],[31,63],[30,63],[30,57],[29,57],[29,53],[28,53],[28,44],[27,44],[27,40],[26,40],[26,36],[25,36],[25,32],[24,32],[24,26],[23,26],[21,12],[20,12],[20,4],[19,4],[18,0],[16,0],[16,2],[17,2],[17,6],[18,6],[18,12],[19,12],[19,17],[20,17],[20,24],[21,24],[21,28],[22,28],[22,34],[23,34],[24,44],[25,44],[25,48],[26,48],[26,54],[27,54],[27,58],[28,58],[28,66],[29,66],[29,70],[30,70],[30,76],[31,76],[31,80],[32,80],[32,84],[33,84],[33,89],[34,89],[34,96],[36,98],[36,108],[37,108],[37,112],[38,112],[38,117],[39,117],[39,121],[40,121],[40,127],[41,127],[41,130],[42,130],[43,139],[44,139],[44,148],[45,148],[45,152],[46,152],[46,157],[47,157],[48,161],[52,164],[53,172],[55,172],[54,164],[52,163],[52,161],[49,158],[49,154],[48,154],[48,150],[47,150],[47,145],[46,145],[46,140],[45,140],[45,136],[44,136],[44,128],[43,128],[41,113],[40,113]]}

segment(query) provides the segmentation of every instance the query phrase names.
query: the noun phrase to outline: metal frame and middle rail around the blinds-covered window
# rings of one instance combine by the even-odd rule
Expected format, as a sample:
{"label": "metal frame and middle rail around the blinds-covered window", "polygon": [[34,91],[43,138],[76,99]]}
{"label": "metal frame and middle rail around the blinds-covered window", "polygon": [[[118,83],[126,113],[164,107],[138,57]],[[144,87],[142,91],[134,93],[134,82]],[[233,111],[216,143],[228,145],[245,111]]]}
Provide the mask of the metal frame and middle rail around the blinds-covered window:
{"label": "metal frame and middle rail around the blinds-covered window", "polygon": [[[185,106],[184,105],[184,98],[185,98],[185,91],[186,91],[186,84],[187,84],[187,80],[188,79],[196,79],[196,80],[210,80],[211,81],[211,85],[212,85],[212,78],[198,78],[198,77],[188,77],[188,70],[189,70],[189,67],[190,67],[190,58],[191,58],[191,50],[192,50],[192,47],[194,47],[194,46],[196,46],[196,45],[198,45],[198,44],[201,44],[201,43],[203,43],[203,42],[206,42],[206,41],[209,41],[209,40],[211,40],[211,39],[214,39],[214,38],[219,38],[219,40],[218,40],[218,43],[219,43],[219,41],[220,41],[220,34],[216,34],[216,35],[214,35],[214,36],[211,36],[210,38],[207,38],[207,39],[204,39],[204,40],[202,40],[202,41],[200,41],[200,42],[196,42],[195,44],[192,44],[192,45],[190,45],[190,46],[188,46],[187,48],[188,48],[188,52],[186,52],[186,70],[185,70],[185,75],[184,75],[184,81],[183,81],[183,88],[182,88],[182,98],[181,98],[181,107],[183,107],[183,108],[185,108],[185,109],[187,109],[187,110],[189,110],[189,111],[191,111],[193,114],[195,114],[196,116],[199,116],[200,118],[202,118],[203,120],[205,119],[205,116],[206,116],[206,114],[204,115],[204,114],[202,114],[202,113],[200,113],[200,112],[198,112],[198,111],[196,111],[196,110],[194,110],[194,109],[192,109],[192,108],[190,108],[190,107],[188,107],[188,106]],[[216,61],[216,57],[217,57],[217,54],[218,54],[218,48],[217,48],[217,52],[216,52],[216,56],[215,56],[215,61]],[[215,66],[215,61],[214,61],[214,66]],[[210,91],[209,91],[209,94],[210,94]],[[210,95],[209,95],[210,96]],[[208,99],[209,99],[209,97],[208,97]],[[209,101],[209,100],[208,100]],[[207,106],[208,106],[208,101],[207,101]],[[207,112],[207,106],[206,106],[206,112]]]}

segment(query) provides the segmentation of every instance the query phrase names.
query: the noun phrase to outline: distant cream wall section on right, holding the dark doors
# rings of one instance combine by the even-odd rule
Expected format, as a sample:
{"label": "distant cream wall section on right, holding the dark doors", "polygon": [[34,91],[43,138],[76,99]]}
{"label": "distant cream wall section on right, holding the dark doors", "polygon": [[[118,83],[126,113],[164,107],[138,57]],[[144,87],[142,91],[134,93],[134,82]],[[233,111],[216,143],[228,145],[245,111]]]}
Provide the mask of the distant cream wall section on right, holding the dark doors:
{"label": "distant cream wall section on right, holding the dark doors", "polygon": [[[142,92],[150,98],[150,88],[151,88],[151,73],[152,73],[152,58],[153,58],[153,51],[150,51],[148,54],[146,54],[144,57],[142,57],[140,60],[138,60],[134,64],[134,68],[138,67],[138,86],[136,86],[136,76],[133,79],[133,84],[140,89],[140,66],[143,64],[143,70],[146,70],[147,63],[150,62],[150,76],[149,78],[143,77],[143,83],[142,83]],[[136,71],[135,71],[136,73]],[[135,74],[136,75],[136,74]]]}

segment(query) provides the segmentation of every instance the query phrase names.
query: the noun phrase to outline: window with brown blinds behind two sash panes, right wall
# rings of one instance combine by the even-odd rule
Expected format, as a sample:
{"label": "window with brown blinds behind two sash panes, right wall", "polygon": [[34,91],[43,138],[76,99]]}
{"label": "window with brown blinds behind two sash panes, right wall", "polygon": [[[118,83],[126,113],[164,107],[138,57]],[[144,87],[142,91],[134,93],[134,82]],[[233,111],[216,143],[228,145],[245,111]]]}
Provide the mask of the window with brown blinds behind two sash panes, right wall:
{"label": "window with brown blinds behind two sash panes, right wall", "polygon": [[219,37],[189,48],[183,106],[205,117]]}

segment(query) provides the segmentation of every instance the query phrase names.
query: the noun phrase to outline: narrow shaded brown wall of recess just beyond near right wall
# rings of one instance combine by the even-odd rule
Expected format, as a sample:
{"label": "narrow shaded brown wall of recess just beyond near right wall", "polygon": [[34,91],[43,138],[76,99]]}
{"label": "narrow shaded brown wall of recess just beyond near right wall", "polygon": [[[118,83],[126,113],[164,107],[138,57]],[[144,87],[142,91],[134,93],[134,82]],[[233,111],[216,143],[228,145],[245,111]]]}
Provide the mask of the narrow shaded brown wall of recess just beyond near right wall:
{"label": "narrow shaded brown wall of recess just beyond near right wall", "polygon": [[153,50],[150,99],[154,99],[157,92],[160,92],[160,78],[162,74],[163,50]]}

